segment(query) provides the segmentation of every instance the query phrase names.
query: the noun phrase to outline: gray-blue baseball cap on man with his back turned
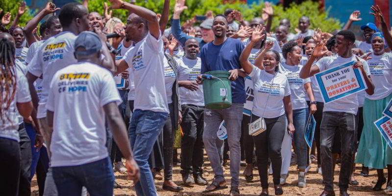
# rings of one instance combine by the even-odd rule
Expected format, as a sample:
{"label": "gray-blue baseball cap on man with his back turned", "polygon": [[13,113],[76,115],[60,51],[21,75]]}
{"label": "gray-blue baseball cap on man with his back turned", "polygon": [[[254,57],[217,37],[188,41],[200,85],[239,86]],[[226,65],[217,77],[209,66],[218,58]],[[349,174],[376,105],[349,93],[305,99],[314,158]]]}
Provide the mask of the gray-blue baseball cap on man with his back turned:
{"label": "gray-blue baseball cap on man with his back turned", "polygon": [[[85,51],[77,51],[76,49],[83,47]],[[98,35],[91,31],[83,31],[75,40],[75,54],[90,55],[97,53],[102,48],[102,43]]]}

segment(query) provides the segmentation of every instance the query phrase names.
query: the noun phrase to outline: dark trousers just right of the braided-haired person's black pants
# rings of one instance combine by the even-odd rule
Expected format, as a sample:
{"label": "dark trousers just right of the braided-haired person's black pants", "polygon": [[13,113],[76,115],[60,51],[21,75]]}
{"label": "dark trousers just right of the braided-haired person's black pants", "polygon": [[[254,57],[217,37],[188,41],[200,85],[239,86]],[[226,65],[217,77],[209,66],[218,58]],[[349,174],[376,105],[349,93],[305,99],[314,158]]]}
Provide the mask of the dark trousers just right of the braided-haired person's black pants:
{"label": "dark trousers just right of the braided-haired person's black pants", "polygon": [[19,146],[21,148],[21,177],[19,179],[19,196],[31,195],[31,143],[24,123],[19,126]]}

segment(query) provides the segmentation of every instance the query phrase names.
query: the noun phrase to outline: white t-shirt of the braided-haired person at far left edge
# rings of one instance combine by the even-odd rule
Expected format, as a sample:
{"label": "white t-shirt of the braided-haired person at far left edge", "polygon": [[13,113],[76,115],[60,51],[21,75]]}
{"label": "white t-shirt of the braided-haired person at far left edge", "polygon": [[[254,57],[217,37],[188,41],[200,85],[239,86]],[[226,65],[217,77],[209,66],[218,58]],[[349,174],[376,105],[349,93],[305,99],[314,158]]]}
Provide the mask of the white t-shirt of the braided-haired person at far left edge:
{"label": "white t-shirt of the braided-haired person at far left edge", "polygon": [[[19,111],[16,106],[16,103],[25,103],[31,101],[30,91],[28,90],[28,83],[25,75],[20,72],[18,69],[15,69],[16,72],[16,94],[15,97],[10,102],[8,112],[1,112],[2,120],[0,120],[0,137],[8,138],[11,140],[15,140],[19,142],[19,124],[23,123],[21,119],[18,118]],[[10,92],[13,92],[13,86],[10,87]],[[6,96],[6,92],[1,92],[3,98]],[[7,103],[3,103],[3,105],[7,105]],[[20,115],[19,115],[20,116]]]}

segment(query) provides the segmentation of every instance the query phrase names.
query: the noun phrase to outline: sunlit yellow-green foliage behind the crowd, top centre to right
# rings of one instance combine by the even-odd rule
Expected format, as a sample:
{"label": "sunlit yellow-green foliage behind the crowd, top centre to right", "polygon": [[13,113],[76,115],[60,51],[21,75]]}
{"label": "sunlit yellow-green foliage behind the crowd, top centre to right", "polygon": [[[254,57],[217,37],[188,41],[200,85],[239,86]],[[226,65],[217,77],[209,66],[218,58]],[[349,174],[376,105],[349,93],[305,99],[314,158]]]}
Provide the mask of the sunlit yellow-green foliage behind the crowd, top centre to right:
{"label": "sunlit yellow-green foliage behind the crowd, top centre to right", "polygon": [[[90,0],[89,10],[97,11],[103,14],[103,2],[108,0]],[[164,0],[137,0],[137,5],[146,7],[153,10],[155,13],[161,13],[163,8]],[[170,16],[173,13],[173,7],[175,0],[170,1]],[[215,15],[222,14],[226,8],[232,8],[239,10],[244,17],[244,20],[250,21],[254,17],[259,17],[262,14],[262,8],[264,8],[263,1],[252,5],[246,5],[239,1],[230,4],[221,4],[221,0],[186,0],[185,4],[188,9],[181,13],[181,22],[184,23],[186,20],[191,19],[194,15],[204,15],[208,10],[212,10]],[[342,28],[343,24],[339,20],[334,18],[328,18],[329,9],[325,12],[319,13],[319,3],[313,1],[305,1],[300,5],[293,3],[290,8],[283,11],[282,6],[273,5],[274,17],[272,21],[272,29],[279,25],[279,21],[284,18],[288,18],[291,21],[291,32],[295,32],[294,28],[298,26],[298,19],[302,15],[309,16],[311,20],[310,28],[321,28],[324,32],[332,32],[335,29]],[[113,10],[112,16],[118,17],[123,22],[126,21],[127,11],[126,10]],[[170,25],[170,24],[168,24]]]}

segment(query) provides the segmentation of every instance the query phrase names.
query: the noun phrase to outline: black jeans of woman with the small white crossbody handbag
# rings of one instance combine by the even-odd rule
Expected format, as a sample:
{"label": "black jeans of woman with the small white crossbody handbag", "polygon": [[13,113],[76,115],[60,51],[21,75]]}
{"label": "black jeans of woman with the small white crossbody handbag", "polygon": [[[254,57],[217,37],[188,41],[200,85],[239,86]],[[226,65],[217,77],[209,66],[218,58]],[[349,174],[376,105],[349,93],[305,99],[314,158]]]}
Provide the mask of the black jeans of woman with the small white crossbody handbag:
{"label": "black jeans of woman with the small white crossbody handbag", "polygon": [[[252,122],[260,117],[252,115]],[[271,159],[273,171],[273,184],[280,183],[280,170],[282,168],[282,148],[285,131],[287,131],[286,116],[272,119],[264,119],[266,121],[267,130],[259,135],[253,136],[256,146],[257,166],[259,169],[261,187],[268,188],[268,157]]]}

